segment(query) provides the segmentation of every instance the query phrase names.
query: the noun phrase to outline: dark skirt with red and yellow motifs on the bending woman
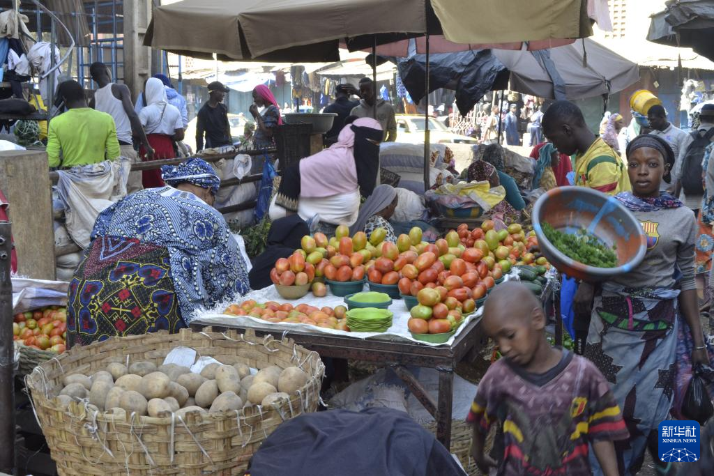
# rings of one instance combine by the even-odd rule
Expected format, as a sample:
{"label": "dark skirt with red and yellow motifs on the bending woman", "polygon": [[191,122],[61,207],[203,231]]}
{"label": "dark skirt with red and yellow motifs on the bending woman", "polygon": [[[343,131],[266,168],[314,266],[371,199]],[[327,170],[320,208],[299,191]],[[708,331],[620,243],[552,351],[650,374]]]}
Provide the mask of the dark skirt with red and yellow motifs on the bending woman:
{"label": "dark skirt with red and yellow motifs on the bending woman", "polygon": [[169,250],[134,238],[99,237],[69,283],[70,345],[185,328]]}

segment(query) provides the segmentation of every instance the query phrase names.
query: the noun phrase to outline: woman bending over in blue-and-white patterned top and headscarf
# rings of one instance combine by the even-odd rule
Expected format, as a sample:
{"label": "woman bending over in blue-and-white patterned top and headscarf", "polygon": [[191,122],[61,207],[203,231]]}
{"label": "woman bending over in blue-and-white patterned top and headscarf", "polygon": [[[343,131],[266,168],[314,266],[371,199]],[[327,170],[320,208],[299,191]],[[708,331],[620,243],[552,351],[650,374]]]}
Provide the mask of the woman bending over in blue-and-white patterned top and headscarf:
{"label": "woman bending over in blue-and-white patterned top and headscarf", "polygon": [[248,292],[236,240],[212,206],[220,184],[213,168],[191,158],[161,172],[166,186],[99,214],[69,285],[70,345],[177,332],[195,310]]}

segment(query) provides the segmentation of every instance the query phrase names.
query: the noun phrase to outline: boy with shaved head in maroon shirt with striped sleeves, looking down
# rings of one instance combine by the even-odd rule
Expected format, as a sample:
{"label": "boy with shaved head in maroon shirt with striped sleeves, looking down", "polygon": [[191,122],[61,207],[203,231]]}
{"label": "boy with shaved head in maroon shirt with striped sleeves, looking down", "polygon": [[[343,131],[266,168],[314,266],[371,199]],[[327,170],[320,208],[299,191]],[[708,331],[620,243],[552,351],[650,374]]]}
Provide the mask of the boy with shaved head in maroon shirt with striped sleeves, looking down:
{"label": "boy with shaved head in maroon shirt with striped sleeves, looking down", "polygon": [[[614,440],[625,440],[620,409],[593,363],[545,338],[545,314],[528,288],[503,283],[483,312],[483,330],[503,358],[478,385],[466,421],[473,425],[473,458],[488,474],[590,476],[588,449],[605,476],[616,476]],[[484,442],[491,425],[501,427],[492,454]]]}

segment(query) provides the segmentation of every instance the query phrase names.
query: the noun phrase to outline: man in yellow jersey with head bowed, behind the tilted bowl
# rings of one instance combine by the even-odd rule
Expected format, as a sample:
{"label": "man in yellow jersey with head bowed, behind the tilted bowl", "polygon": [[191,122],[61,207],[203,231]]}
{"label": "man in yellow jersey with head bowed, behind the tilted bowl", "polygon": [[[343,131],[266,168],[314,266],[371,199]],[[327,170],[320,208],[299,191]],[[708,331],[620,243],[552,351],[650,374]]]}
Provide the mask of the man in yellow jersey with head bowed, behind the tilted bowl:
{"label": "man in yellow jersey with head bowed, behind the tilted bowl", "polygon": [[543,133],[558,152],[575,157],[575,185],[608,195],[630,191],[630,178],[623,161],[612,147],[585,124],[578,106],[555,101],[543,115]]}

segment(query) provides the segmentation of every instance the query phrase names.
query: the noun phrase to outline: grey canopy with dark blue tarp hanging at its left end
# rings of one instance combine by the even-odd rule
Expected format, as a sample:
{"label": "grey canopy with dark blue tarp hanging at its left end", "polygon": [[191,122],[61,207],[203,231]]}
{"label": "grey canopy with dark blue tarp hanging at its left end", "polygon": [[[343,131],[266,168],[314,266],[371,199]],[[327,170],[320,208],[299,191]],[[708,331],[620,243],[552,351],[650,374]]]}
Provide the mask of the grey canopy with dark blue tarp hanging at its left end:
{"label": "grey canopy with dark blue tarp hanging at its left end", "polygon": [[[429,63],[431,90],[454,89],[462,113],[471,111],[486,92],[503,88],[541,98],[581,99],[622,91],[640,79],[637,64],[590,39],[540,51],[436,54]],[[420,101],[426,56],[412,56],[398,66],[412,100]]]}

